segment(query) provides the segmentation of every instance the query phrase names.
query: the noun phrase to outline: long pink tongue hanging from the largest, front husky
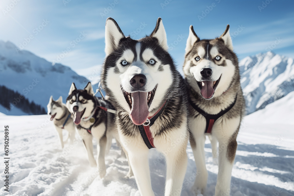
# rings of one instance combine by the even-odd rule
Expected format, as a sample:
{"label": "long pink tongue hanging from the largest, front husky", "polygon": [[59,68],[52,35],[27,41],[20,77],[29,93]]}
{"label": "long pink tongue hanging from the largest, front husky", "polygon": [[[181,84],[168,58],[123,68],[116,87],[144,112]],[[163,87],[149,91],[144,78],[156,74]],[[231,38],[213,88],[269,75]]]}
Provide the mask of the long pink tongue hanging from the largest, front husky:
{"label": "long pink tongue hanging from the largest, front husky", "polygon": [[147,92],[136,91],[132,93],[132,101],[131,120],[135,125],[142,125],[149,115]]}

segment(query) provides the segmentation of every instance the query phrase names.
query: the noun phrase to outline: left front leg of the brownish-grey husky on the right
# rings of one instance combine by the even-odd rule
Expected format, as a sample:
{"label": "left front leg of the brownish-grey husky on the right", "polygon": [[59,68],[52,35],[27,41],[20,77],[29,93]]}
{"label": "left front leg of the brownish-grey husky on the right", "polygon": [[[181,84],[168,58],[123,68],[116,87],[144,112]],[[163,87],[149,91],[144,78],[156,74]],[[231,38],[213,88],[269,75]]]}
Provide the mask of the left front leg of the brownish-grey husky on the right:
{"label": "left front leg of the brownish-grey husky on the right", "polygon": [[[193,150],[193,155],[197,168],[197,175],[192,187],[192,190],[195,191],[196,194],[203,193],[206,189],[208,172],[205,165],[205,152],[204,152],[204,144],[205,144],[205,135],[199,135],[197,137],[191,138],[195,140],[195,145],[191,145]],[[190,140],[191,140],[190,139]],[[191,143],[191,141],[190,141]]]}

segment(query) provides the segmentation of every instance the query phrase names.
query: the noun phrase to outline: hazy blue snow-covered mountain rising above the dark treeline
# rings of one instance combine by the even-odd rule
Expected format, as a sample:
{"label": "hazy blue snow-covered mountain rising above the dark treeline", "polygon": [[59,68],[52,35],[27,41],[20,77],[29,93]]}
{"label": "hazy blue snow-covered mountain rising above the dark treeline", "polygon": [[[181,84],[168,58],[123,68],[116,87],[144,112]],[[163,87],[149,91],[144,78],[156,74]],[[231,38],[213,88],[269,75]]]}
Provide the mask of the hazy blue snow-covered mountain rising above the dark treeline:
{"label": "hazy blue snow-covered mountain rising above the dark treeline", "polygon": [[[53,66],[51,62],[29,51],[19,51],[9,41],[0,41],[1,85],[18,91],[25,98],[46,108],[51,95],[54,99],[62,96],[65,100],[72,82],[77,88],[84,88],[88,79],[67,66],[59,63]],[[11,102],[18,100],[15,99]],[[1,112],[10,115],[6,110]]]}

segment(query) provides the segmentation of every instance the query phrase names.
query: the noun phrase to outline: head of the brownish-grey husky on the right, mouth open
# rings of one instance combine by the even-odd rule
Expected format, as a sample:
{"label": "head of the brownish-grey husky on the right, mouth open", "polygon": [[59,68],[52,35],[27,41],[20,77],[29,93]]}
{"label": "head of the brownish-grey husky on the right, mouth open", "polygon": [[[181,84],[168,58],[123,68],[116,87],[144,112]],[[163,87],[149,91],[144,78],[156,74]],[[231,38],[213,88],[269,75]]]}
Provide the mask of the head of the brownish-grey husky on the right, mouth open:
{"label": "head of the brownish-grey husky on the right, mouth open", "polygon": [[233,79],[239,77],[239,68],[229,27],[218,38],[200,40],[190,26],[183,71],[191,87],[205,99],[220,96],[238,81]]}

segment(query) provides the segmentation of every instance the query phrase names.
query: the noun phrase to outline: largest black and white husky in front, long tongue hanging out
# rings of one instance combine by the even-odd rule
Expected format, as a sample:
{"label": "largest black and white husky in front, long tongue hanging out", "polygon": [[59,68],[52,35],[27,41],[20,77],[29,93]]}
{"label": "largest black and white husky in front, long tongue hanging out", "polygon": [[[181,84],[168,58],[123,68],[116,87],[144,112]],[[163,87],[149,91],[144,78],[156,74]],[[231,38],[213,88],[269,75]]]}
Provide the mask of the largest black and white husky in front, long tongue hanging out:
{"label": "largest black and white husky in front, long tongue hanging out", "polygon": [[112,18],[105,29],[101,82],[116,106],[118,133],[138,189],[142,196],[154,195],[148,153],[155,147],[166,157],[165,195],[180,195],[187,167],[188,105],[162,20],[158,18],[153,32],[139,40],[125,37]]}

